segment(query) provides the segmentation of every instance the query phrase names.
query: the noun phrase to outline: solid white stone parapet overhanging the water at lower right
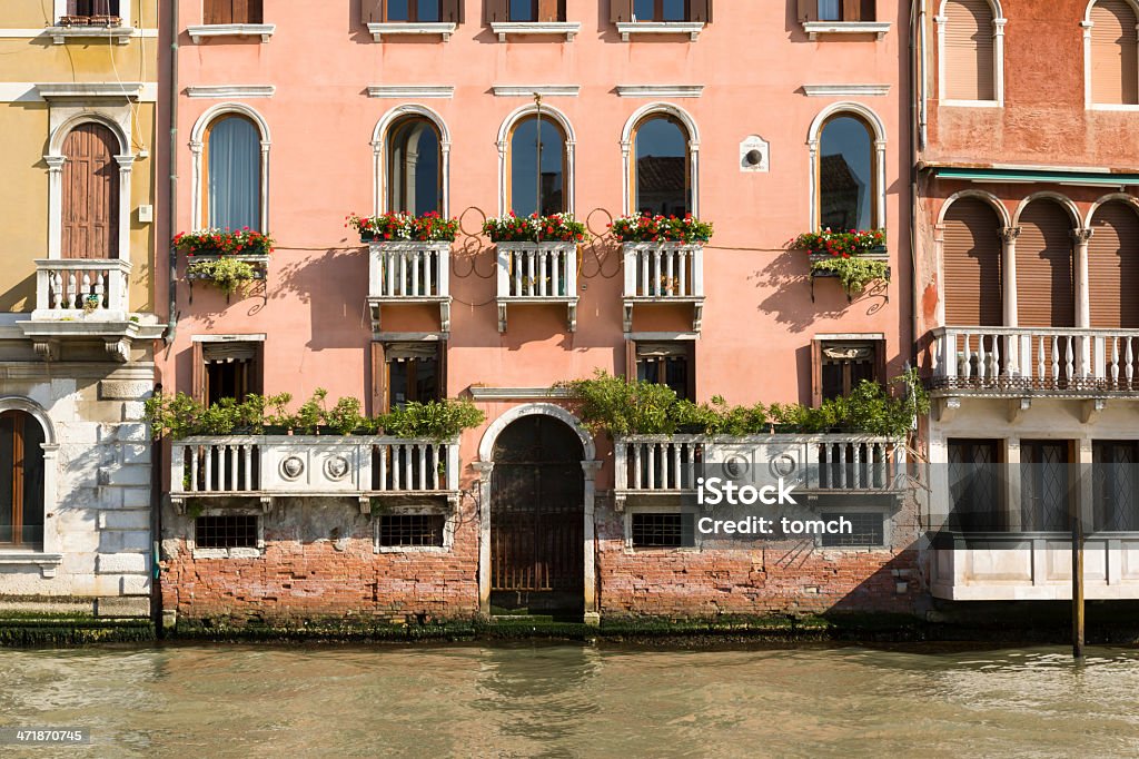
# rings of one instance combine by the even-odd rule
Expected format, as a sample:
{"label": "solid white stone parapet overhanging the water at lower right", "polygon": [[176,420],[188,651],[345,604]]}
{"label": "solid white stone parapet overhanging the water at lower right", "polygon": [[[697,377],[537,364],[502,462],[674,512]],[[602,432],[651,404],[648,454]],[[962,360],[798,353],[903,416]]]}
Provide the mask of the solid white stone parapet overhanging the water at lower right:
{"label": "solid white stone parapet overhanging the water at lower right", "polygon": [[[1062,601],[1072,597],[1072,539],[1065,533],[940,536],[932,591],[951,601]],[[1084,596],[1139,598],[1139,533],[1084,540]]]}

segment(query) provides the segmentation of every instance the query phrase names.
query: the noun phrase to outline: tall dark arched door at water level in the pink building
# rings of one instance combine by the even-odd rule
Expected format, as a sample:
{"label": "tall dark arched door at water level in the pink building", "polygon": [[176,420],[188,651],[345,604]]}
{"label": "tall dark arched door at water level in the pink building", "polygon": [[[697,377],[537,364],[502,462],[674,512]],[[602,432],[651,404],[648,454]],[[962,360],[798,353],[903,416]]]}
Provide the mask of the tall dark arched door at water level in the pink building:
{"label": "tall dark arched door at water level in the pink building", "polygon": [[494,443],[491,606],[580,612],[584,598],[582,446],[546,415],[511,423]]}

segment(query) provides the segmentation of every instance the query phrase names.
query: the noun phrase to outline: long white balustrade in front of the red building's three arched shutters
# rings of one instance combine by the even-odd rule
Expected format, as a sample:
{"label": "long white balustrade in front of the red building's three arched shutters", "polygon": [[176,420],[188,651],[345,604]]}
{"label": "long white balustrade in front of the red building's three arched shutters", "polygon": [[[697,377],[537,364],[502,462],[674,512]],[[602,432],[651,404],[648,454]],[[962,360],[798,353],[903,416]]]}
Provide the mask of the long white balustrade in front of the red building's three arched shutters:
{"label": "long white balustrade in front of the red building's three arched shutters", "polygon": [[1065,327],[934,329],[932,386],[982,394],[1139,391],[1139,330]]}

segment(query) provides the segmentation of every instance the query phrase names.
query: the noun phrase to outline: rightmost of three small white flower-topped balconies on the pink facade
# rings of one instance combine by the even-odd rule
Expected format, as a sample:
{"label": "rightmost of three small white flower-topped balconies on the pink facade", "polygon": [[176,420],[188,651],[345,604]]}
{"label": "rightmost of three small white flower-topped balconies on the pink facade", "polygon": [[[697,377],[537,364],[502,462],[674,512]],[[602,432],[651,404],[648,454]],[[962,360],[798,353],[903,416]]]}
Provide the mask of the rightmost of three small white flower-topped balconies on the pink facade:
{"label": "rightmost of three small white flower-topped balconies on the pink facade", "polygon": [[691,304],[693,332],[704,315],[704,246],[699,243],[624,243],[624,328],[639,304]]}

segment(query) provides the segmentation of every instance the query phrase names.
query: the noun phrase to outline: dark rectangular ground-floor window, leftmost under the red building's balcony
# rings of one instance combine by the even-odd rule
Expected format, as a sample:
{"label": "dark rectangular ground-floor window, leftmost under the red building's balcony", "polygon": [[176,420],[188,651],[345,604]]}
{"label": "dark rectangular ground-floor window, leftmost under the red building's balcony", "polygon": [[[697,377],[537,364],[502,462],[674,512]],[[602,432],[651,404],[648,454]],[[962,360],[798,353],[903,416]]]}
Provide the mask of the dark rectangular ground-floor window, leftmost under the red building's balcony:
{"label": "dark rectangular ground-floor window, leftmost under the red building's balcony", "polygon": [[1007,529],[999,440],[949,441],[949,528],[962,532]]}

